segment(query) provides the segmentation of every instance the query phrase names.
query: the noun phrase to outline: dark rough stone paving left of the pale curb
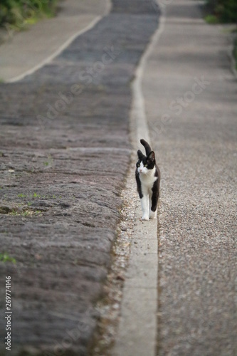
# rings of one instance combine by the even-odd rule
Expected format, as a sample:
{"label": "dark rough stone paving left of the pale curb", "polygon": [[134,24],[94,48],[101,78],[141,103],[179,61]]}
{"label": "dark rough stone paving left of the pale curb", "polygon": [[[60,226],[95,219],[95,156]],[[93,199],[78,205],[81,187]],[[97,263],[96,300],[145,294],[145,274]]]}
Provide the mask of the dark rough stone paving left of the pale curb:
{"label": "dark rough stone paving left of the pale curb", "polygon": [[[89,355],[130,164],[130,82],[157,28],[146,1],[111,13],[47,66],[1,83],[1,315],[11,355]],[[6,320],[1,318],[1,355]]]}

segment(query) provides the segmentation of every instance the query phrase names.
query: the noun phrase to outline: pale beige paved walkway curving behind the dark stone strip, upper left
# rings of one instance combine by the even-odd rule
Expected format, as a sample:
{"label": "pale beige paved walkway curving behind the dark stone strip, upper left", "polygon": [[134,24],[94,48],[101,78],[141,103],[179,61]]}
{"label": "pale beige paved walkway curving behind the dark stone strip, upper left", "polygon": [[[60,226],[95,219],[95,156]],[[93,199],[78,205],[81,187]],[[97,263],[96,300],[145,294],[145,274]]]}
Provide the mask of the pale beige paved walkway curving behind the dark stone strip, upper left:
{"label": "pale beige paved walkway curving behind the dark stone strip, upper left", "polygon": [[[66,0],[53,19],[43,19],[0,46],[0,79],[14,81],[51,61],[80,31],[110,11],[110,0]],[[79,14],[79,15],[78,15]]]}

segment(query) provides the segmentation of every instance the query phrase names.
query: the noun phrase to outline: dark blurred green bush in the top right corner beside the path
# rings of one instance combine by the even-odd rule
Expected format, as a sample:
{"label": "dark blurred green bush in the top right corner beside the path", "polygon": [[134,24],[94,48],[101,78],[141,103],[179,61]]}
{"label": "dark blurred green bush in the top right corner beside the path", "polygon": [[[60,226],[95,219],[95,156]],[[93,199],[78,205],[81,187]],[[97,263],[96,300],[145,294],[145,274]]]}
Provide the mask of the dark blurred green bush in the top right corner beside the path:
{"label": "dark blurred green bush in the top right corner beside the path", "polygon": [[237,23],[236,0],[206,0],[208,23]]}

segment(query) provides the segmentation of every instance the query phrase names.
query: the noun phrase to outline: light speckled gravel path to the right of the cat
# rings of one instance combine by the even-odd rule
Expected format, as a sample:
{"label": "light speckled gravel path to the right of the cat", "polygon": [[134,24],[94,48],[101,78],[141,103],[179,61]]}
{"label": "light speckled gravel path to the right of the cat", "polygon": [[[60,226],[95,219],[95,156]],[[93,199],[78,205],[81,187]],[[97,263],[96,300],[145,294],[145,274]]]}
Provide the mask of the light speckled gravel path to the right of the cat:
{"label": "light speckled gravel path to the right of the cat", "polygon": [[236,78],[229,35],[169,1],[143,92],[162,172],[157,355],[234,356]]}

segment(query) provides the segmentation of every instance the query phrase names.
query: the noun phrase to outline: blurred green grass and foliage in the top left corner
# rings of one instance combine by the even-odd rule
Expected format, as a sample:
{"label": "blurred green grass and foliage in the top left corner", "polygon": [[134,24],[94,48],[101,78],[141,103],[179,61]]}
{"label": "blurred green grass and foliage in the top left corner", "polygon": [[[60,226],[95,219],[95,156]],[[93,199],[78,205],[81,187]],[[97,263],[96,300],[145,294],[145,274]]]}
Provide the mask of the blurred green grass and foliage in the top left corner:
{"label": "blurred green grass and foliage in the top left corner", "polygon": [[56,13],[58,0],[1,0],[0,26],[21,30],[27,24]]}

